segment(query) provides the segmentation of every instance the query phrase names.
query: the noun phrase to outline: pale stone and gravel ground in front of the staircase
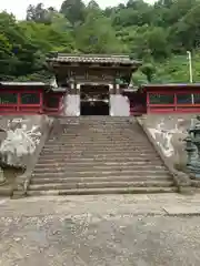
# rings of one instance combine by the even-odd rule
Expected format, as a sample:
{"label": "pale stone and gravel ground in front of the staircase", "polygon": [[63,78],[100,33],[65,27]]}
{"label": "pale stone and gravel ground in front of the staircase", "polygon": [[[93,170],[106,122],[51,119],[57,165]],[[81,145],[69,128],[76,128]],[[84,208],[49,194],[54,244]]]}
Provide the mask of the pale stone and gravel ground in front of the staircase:
{"label": "pale stone and gravel ground in front of the staircase", "polygon": [[0,266],[199,266],[200,196],[0,200]]}

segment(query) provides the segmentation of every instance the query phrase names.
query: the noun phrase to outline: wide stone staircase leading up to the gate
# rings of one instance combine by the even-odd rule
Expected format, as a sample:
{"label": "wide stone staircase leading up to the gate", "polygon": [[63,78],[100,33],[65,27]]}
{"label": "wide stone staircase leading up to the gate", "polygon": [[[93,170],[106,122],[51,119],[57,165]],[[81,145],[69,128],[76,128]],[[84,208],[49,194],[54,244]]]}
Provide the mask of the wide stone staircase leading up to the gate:
{"label": "wide stone staircase leading up to the gate", "polygon": [[173,178],[133,117],[60,121],[36,165],[28,195],[176,192]]}

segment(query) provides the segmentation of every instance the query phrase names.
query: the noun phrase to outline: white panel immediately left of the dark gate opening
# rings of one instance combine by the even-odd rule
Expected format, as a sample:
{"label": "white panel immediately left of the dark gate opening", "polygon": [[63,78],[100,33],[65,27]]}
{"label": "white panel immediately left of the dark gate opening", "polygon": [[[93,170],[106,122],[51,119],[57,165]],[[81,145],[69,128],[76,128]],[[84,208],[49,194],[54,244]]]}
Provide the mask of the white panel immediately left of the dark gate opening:
{"label": "white panel immediately left of the dark gate opening", "polygon": [[80,95],[69,94],[64,99],[64,115],[79,116],[80,115]]}

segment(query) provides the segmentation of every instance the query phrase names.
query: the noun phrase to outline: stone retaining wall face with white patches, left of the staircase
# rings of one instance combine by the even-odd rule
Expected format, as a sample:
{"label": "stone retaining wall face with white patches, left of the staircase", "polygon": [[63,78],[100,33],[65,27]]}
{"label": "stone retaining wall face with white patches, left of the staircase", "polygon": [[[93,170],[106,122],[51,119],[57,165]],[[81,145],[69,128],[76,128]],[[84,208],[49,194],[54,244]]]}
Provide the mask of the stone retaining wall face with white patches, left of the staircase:
{"label": "stone retaining wall face with white patches, left of the staircase", "polygon": [[47,115],[1,116],[0,157],[3,164],[27,167],[51,122]]}

